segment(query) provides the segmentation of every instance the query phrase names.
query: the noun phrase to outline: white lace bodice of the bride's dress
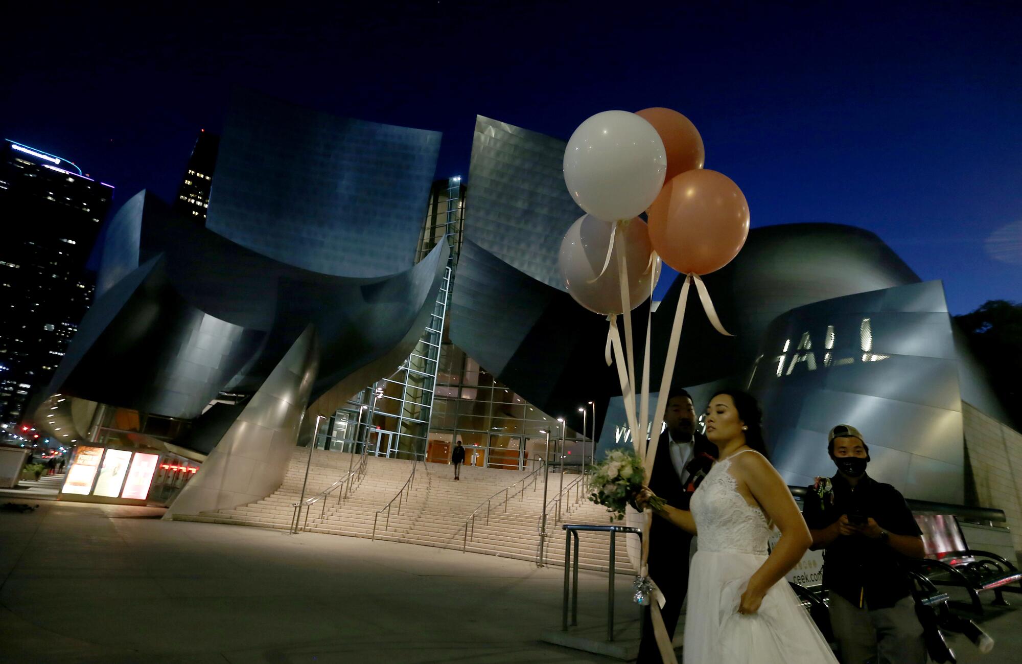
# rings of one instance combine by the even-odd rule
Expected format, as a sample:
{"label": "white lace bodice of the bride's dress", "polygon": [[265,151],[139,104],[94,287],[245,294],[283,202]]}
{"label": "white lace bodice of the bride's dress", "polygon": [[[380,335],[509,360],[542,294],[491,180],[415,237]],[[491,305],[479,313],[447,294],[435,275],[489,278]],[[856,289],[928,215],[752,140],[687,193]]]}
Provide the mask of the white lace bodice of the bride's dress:
{"label": "white lace bodice of the bride's dress", "polygon": [[714,464],[692,494],[690,507],[699,551],[765,555],[771,526],[762,510],[746,503],[738,492],[738,480],[728,472],[730,467],[731,458]]}

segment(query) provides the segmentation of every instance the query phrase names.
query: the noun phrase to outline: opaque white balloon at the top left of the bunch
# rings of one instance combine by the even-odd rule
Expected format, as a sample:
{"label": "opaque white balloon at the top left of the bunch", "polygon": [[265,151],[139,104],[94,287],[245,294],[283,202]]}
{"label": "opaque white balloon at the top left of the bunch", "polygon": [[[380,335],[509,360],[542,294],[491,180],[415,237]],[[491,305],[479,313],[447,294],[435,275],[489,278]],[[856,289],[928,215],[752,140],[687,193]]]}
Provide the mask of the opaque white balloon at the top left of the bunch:
{"label": "opaque white balloon at the top left of the bunch", "polygon": [[575,202],[606,221],[643,212],[663,188],[667,154],[648,122],[605,110],[578,126],[564,149],[564,183]]}

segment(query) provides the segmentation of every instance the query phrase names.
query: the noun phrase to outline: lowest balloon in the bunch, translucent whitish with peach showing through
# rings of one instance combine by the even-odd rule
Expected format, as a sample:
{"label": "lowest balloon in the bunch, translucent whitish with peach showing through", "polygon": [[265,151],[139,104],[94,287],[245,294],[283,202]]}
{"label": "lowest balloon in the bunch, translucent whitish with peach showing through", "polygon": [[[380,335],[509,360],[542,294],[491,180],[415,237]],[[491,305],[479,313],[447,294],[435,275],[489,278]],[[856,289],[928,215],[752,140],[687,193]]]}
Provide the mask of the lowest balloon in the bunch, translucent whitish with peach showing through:
{"label": "lowest balloon in the bunch, translucent whitish with peach showing through", "polygon": [[[639,306],[647,299],[660,278],[660,259],[650,265],[649,256],[653,245],[649,241],[646,222],[633,219],[621,222],[621,232],[614,240],[610,263],[601,275],[606,263],[610,234],[616,223],[599,220],[592,215],[579,217],[561,240],[561,251],[557,256],[557,267],[564,278],[568,294],[576,302],[597,314],[622,314],[620,272],[617,268],[617,253],[624,251],[625,271],[629,275],[629,304]],[[599,275],[599,276],[597,276]]]}

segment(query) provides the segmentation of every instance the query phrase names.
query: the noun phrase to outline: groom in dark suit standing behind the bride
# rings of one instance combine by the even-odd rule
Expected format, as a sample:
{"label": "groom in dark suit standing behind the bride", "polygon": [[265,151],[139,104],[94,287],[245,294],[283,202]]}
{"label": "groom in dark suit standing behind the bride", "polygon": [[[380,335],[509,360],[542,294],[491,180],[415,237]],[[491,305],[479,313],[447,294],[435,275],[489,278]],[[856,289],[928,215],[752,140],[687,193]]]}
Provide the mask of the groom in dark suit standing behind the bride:
{"label": "groom in dark suit standing behind the bride", "polygon": [[[664,412],[667,430],[656,446],[653,470],[656,475],[648,478],[649,488],[680,510],[689,509],[689,499],[699,482],[709,472],[716,457],[716,446],[696,432],[696,412],[692,397],[684,389],[670,390]],[[658,520],[650,537],[649,575],[663,592],[666,604],[661,615],[667,634],[673,638],[682,603],[689,587],[689,547],[692,535],[665,521]],[[658,664],[660,651],[653,636],[651,610],[645,609],[642,643],[639,645],[639,664]]]}

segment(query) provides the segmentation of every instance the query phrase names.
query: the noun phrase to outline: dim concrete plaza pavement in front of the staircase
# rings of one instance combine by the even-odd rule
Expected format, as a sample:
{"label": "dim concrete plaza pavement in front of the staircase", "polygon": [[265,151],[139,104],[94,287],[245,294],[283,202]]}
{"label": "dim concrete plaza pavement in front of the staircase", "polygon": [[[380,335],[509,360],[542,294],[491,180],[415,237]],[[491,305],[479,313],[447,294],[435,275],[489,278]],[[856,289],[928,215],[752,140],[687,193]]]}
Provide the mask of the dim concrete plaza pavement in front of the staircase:
{"label": "dim concrete plaza pavement in front of the staircase", "polygon": [[[0,662],[614,661],[540,641],[559,627],[561,568],[162,512],[0,510]],[[605,624],[606,578],[582,572],[580,626]],[[620,622],[635,617],[631,580],[618,577]],[[993,653],[953,635],[961,664],[1022,661],[1022,610],[981,624]]]}

